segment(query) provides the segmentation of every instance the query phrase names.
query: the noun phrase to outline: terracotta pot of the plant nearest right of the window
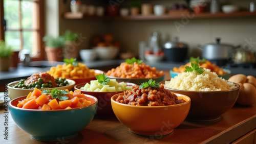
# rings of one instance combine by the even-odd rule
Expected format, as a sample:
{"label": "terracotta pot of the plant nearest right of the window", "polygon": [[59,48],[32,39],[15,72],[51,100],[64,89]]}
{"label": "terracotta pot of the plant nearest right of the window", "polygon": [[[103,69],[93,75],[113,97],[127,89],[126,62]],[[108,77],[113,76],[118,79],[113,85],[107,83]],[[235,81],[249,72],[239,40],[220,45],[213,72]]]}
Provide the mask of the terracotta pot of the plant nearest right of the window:
{"label": "terracotta pot of the plant nearest right of the window", "polygon": [[48,61],[62,61],[63,48],[62,47],[50,47],[45,48]]}

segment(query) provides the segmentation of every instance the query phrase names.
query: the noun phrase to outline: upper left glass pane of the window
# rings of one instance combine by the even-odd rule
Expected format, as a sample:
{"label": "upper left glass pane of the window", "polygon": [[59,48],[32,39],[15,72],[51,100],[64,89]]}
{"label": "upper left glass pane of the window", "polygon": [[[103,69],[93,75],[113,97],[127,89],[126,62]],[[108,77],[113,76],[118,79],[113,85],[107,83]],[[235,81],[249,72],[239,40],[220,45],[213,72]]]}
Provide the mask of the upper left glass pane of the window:
{"label": "upper left glass pane of the window", "polygon": [[7,29],[19,29],[19,1],[4,0],[4,14]]}

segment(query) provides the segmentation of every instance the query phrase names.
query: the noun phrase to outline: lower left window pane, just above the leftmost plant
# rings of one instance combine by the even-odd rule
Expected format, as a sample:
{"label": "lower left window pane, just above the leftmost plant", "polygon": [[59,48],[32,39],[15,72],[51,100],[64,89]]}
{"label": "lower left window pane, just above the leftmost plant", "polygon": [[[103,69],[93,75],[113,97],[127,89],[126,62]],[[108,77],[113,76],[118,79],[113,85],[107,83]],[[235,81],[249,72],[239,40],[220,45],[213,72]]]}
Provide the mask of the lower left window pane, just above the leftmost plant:
{"label": "lower left window pane, just above the leftmost plant", "polygon": [[6,44],[11,45],[14,50],[20,50],[19,31],[5,32]]}

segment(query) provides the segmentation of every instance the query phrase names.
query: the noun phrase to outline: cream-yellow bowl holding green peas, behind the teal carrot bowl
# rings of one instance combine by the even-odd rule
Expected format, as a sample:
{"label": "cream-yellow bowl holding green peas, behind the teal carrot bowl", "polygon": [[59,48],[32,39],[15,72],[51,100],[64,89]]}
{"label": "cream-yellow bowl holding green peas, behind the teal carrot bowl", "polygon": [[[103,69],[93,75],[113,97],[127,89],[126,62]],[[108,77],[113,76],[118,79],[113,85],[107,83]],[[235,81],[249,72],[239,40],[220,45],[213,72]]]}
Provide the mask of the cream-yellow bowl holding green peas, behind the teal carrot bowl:
{"label": "cream-yellow bowl holding green peas, behind the teal carrot bowl", "polygon": [[[54,87],[54,88],[58,88],[58,89],[68,89],[68,90],[73,90],[76,82],[73,80],[69,80],[66,79],[69,82],[69,85],[67,86],[61,86],[61,87]],[[14,87],[10,87],[10,85],[15,85],[17,84],[19,81],[14,81],[8,84],[7,88],[8,88],[8,93],[9,93],[9,97],[11,100],[18,98],[18,97],[22,97],[24,95],[28,95],[29,92],[32,92],[34,89],[22,89],[22,88],[14,88]],[[44,89],[54,89],[54,88],[39,88],[40,90],[44,90]]]}

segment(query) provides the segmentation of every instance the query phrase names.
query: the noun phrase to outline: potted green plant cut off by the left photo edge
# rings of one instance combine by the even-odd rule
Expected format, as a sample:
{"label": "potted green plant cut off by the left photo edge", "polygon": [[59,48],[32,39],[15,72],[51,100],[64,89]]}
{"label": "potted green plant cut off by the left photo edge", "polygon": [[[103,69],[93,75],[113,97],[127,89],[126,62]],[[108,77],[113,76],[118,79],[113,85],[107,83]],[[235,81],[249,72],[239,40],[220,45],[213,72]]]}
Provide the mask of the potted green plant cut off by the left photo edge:
{"label": "potted green plant cut off by the left photo edge", "polygon": [[0,40],[0,71],[7,71],[11,66],[11,56],[13,50],[11,46],[7,46],[5,41]]}

